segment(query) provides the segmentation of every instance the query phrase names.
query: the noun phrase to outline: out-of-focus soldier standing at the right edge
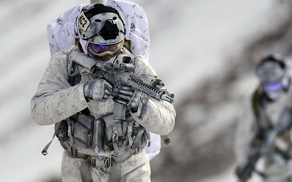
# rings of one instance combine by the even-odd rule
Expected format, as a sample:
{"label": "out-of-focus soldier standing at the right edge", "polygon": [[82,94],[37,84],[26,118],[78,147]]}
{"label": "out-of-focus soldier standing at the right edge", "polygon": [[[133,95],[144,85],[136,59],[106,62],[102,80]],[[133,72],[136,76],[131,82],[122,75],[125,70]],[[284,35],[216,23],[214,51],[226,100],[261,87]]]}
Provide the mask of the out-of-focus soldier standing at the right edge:
{"label": "out-of-focus soldier standing at the right edge", "polygon": [[[270,55],[258,63],[256,74],[260,84],[236,132],[237,177],[244,182],[256,172],[265,182],[291,182],[291,71]],[[264,171],[256,169],[261,157]]]}

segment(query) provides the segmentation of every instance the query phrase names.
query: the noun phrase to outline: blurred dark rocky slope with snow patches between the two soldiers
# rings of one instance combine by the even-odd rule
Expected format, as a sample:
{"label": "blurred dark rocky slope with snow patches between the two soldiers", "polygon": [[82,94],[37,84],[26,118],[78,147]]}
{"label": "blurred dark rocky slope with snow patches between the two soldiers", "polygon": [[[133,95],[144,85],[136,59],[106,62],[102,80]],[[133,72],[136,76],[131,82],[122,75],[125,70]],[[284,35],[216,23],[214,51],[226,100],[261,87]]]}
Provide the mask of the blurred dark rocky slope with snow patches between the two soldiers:
{"label": "blurred dark rocky slope with snow patches between the two soldiers", "polygon": [[[251,9],[246,8],[246,12]],[[205,73],[212,73],[196,82],[194,89],[184,90],[185,99],[176,107],[176,126],[170,133],[172,145],[163,146],[157,160],[151,161],[152,181],[236,180],[234,133],[242,103],[249,99],[242,96],[256,87],[254,66],[260,57],[271,52],[291,54],[290,12],[291,1],[271,2],[256,12],[258,15],[253,19],[238,26],[238,30],[234,29],[237,32],[225,35],[233,38],[233,33],[238,33],[227,45],[218,48],[221,53],[213,61],[219,60],[220,65],[211,65]],[[240,33],[241,30],[244,31]],[[198,74],[205,76],[204,72]],[[258,181],[255,176],[253,182]]]}

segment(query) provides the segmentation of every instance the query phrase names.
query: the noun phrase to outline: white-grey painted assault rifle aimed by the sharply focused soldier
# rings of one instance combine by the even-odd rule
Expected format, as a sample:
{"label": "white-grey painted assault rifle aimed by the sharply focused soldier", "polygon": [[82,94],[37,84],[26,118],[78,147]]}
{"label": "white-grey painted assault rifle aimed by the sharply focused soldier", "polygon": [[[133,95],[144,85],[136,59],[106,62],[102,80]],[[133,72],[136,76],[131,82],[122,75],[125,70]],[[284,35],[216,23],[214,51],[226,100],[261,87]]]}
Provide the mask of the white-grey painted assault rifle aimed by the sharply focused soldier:
{"label": "white-grey painted assault rifle aimed by the sharply focused soldier", "polygon": [[[174,102],[174,94],[168,92],[164,88],[164,83],[157,76],[147,74],[137,77],[133,74],[135,70],[133,58],[126,54],[118,54],[113,63],[102,63],[94,58],[82,53],[78,49],[73,49],[69,53],[69,76],[74,77],[77,74],[91,73],[96,78],[104,78],[113,86],[118,84],[126,84],[133,89],[141,91],[144,97],[161,101],[166,100],[170,103]],[[114,103],[114,119],[125,120],[126,107],[117,102]],[[142,110],[142,104],[139,105]],[[142,113],[137,113],[140,117]]]}

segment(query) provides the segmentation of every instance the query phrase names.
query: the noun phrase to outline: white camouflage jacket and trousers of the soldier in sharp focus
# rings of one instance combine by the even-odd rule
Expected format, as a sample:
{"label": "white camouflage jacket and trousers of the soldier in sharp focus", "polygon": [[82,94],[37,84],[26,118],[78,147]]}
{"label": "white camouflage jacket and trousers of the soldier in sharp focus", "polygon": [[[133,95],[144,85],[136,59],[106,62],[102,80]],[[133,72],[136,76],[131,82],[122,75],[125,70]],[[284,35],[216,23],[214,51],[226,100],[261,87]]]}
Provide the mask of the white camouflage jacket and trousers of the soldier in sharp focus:
{"label": "white camouflage jacket and trousers of the soldier in sharp focus", "polygon": [[[73,46],[75,47],[75,46]],[[73,49],[72,47],[72,49]],[[112,97],[107,102],[91,100],[89,103],[84,98],[83,85],[93,80],[90,74],[83,75],[79,84],[71,86],[68,83],[67,54],[70,50],[60,50],[53,55],[45,73],[37,87],[37,92],[31,100],[31,115],[39,125],[51,125],[59,122],[75,113],[85,109],[91,111],[95,119],[101,119],[113,113],[114,101]],[[153,68],[148,64],[144,56],[135,56],[134,74],[156,75]],[[140,125],[149,131],[166,135],[174,127],[175,109],[167,101],[149,100],[148,112],[145,120],[139,120],[136,114],[132,117]],[[87,149],[81,150],[82,153],[91,154]],[[84,159],[73,158],[66,152],[62,160],[62,179],[65,182],[81,181],[78,167]],[[149,159],[144,149],[136,155],[132,155],[126,161],[119,163],[121,167],[121,179],[125,182],[148,182],[150,181]],[[110,173],[99,171],[91,167],[91,175],[94,182],[99,180],[107,181]]]}

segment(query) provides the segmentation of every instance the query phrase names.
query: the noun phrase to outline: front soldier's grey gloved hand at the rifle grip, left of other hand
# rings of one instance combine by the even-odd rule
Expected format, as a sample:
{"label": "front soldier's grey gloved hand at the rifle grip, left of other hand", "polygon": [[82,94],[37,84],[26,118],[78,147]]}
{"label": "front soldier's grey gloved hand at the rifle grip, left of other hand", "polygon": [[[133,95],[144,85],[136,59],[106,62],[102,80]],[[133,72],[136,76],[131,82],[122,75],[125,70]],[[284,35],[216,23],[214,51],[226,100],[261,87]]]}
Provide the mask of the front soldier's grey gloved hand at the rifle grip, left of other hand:
{"label": "front soldier's grey gloved hand at the rifle grip, left of other hand", "polygon": [[95,79],[84,84],[83,93],[86,99],[105,102],[110,98],[111,84],[104,79]]}

